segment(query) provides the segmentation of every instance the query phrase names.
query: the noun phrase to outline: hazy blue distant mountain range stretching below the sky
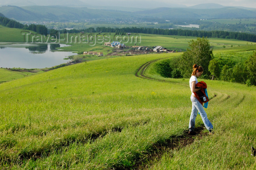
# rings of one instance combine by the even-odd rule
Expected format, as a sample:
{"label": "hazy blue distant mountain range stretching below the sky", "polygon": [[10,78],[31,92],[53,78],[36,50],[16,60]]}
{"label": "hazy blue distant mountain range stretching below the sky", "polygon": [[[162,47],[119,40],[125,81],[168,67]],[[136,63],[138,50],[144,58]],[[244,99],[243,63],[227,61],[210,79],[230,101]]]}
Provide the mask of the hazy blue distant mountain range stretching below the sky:
{"label": "hazy blue distant mountain range stretching below the sky", "polygon": [[[68,1],[63,1],[64,4],[65,2]],[[208,9],[205,9],[206,6]],[[162,19],[172,21],[173,19],[256,18],[256,9],[225,7],[218,4],[201,4],[190,8],[136,9],[139,11],[132,11],[131,9],[130,11],[113,10],[113,8],[112,10],[101,10],[87,7],[38,5],[18,7],[7,5],[0,7],[0,13],[7,18],[21,22],[69,22],[94,19],[105,21]]]}

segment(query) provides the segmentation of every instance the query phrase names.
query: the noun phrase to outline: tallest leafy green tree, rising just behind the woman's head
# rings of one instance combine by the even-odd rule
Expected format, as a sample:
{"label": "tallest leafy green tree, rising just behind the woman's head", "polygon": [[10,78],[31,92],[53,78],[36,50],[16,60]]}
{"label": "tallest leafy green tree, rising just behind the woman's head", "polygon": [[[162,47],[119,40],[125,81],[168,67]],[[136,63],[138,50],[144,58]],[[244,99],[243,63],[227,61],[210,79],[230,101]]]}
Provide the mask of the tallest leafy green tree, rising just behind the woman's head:
{"label": "tallest leafy green tree, rising just behind the woman's head", "polygon": [[192,73],[193,64],[197,64],[204,69],[204,78],[210,77],[208,65],[212,59],[212,49],[206,38],[197,38],[189,43],[189,48],[181,56],[179,62],[181,74],[184,78],[189,78]]}

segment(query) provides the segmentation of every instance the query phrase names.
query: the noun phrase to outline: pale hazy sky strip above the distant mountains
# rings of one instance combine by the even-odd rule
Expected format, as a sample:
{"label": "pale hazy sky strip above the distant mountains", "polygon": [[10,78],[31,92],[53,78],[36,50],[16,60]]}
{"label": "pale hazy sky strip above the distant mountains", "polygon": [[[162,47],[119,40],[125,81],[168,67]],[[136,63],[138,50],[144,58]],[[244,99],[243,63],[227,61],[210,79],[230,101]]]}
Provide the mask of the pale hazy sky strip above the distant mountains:
{"label": "pale hazy sky strip above the distant mountains", "polygon": [[[117,6],[137,8],[189,7],[198,4],[215,3],[224,6],[256,8],[256,0],[80,0],[84,5]],[[1,5],[81,5],[79,0],[0,0]]]}

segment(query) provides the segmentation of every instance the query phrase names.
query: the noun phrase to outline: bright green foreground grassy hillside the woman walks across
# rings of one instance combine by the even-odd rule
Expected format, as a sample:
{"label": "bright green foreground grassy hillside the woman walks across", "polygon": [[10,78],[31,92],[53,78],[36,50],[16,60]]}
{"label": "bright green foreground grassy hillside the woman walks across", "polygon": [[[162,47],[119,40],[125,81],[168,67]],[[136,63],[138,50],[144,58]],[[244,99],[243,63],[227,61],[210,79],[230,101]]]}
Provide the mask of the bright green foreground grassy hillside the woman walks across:
{"label": "bright green foreground grassy hillside the woman walks across", "polygon": [[198,116],[200,135],[181,144],[189,80],[153,74],[154,62],[139,69],[174,55],[95,60],[0,84],[0,169],[255,169],[256,88],[204,80],[215,134]]}

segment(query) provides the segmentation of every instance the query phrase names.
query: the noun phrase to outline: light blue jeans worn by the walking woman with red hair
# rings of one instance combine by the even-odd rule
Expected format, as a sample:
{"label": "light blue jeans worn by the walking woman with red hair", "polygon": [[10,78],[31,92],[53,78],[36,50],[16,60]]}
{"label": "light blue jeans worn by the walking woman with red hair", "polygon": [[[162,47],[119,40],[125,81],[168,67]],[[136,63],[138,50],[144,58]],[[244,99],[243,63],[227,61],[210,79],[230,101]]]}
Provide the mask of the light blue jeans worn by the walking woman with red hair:
{"label": "light blue jeans worn by the walking woman with red hair", "polygon": [[192,102],[192,111],[191,111],[190,120],[189,120],[189,127],[188,127],[189,131],[193,131],[195,128],[197,110],[199,111],[199,113],[202,117],[204,126],[206,126],[206,129],[208,131],[211,131],[213,129],[213,126],[212,126],[210,120],[208,120],[208,118],[207,118],[207,114],[204,111],[203,105],[197,100],[196,97],[193,97],[192,95],[191,95],[190,99]]}

